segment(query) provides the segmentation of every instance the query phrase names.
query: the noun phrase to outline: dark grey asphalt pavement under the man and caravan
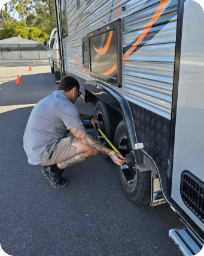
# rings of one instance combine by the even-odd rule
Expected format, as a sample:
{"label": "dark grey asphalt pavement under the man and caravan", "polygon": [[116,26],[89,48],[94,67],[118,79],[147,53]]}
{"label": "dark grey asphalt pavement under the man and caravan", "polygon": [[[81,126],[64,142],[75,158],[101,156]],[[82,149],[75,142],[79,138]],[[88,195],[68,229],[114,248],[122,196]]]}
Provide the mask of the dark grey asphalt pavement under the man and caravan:
{"label": "dark grey asphalt pavement under the man and caravan", "polygon": [[[29,65],[28,65],[29,67]],[[57,90],[49,66],[0,67],[0,245],[13,256],[179,256],[168,236],[183,226],[168,204],[133,204],[111,160],[97,154],[66,169],[54,189],[41,166],[29,165],[23,133],[33,105]],[[23,82],[16,84],[16,76]],[[80,112],[93,106],[75,103]],[[0,251],[1,251],[0,248]],[[1,254],[1,252],[0,252]]]}

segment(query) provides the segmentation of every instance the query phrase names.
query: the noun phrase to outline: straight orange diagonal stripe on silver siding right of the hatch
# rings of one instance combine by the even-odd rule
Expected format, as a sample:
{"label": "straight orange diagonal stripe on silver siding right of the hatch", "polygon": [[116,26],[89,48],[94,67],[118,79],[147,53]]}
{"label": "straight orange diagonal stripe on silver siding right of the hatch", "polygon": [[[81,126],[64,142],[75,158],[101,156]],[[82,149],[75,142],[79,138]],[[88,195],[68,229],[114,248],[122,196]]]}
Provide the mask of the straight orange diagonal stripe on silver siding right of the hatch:
{"label": "straight orange diagonal stripe on silver siding right of the hatch", "polygon": [[153,25],[154,22],[159,19],[160,14],[164,10],[166,4],[168,3],[169,0],[160,0],[159,7],[157,8],[156,12],[154,13],[154,16],[151,18],[150,22],[147,23],[147,25],[144,27],[144,30],[142,31],[141,35],[139,36],[138,40],[136,43],[133,44],[133,46],[130,48],[129,52],[127,55],[123,58],[123,63],[126,62],[126,59],[129,58],[130,54],[133,52],[133,50],[136,49],[139,43],[144,39],[145,35],[147,35],[148,31],[150,31],[151,26]]}

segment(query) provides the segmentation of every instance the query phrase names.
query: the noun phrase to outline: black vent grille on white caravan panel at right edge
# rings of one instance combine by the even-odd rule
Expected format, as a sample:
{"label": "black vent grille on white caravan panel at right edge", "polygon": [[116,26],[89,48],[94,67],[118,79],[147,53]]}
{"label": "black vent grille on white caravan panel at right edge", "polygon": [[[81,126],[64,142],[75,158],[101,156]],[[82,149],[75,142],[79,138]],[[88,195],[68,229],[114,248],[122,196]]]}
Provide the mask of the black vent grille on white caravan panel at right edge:
{"label": "black vent grille on white caravan panel at right edge", "polygon": [[204,184],[187,171],[181,175],[181,198],[188,209],[204,223]]}

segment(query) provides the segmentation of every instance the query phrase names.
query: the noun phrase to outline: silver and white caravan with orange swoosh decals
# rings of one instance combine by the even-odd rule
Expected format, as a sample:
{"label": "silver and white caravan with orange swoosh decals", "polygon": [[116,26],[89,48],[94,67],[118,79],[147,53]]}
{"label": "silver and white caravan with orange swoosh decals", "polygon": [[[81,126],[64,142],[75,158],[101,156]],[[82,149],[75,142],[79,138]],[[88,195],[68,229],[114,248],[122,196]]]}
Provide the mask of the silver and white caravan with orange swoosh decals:
{"label": "silver and white caravan with orange swoosh decals", "polygon": [[[80,82],[136,204],[170,204],[184,255],[204,243],[204,13],[193,0],[54,0],[60,73]],[[96,138],[108,146],[97,131]]]}

